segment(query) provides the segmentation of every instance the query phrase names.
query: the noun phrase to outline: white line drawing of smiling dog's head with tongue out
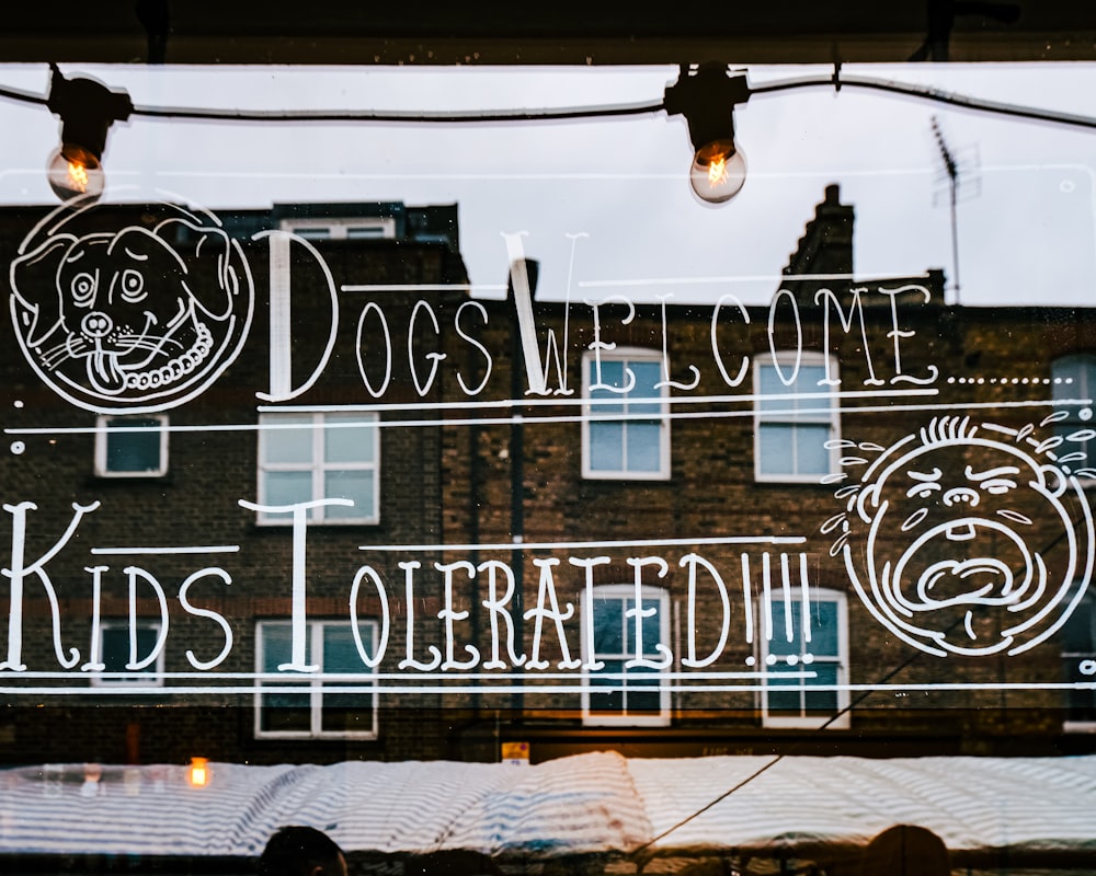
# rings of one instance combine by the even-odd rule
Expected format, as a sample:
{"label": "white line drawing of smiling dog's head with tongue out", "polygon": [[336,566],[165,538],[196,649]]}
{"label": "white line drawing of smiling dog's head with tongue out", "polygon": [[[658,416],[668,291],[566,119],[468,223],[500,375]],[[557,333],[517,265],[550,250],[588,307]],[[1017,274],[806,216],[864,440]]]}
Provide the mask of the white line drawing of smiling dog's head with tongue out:
{"label": "white line drawing of smiling dog's head with tongue out", "polygon": [[[194,241],[185,254],[173,243],[181,224]],[[16,333],[38,372],[78,404],[169,406],[235,356],[249,277],[216,224],[170,217],[82,234],[62,224],[28,242],[11,266]]]}

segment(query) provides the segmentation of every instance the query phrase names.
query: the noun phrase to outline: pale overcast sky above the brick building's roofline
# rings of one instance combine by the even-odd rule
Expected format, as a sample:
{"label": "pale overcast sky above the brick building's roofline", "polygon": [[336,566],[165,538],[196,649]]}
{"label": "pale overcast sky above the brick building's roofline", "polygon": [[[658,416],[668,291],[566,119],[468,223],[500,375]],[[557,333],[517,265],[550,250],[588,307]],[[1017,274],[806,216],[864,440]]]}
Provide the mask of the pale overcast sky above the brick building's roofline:
{"label": "pale overcast sky above the brick building's roofline", "polygon": [[[657,103],[674,67],[204,68],[64,66],[138,106],[511,111]],[[831,68],[750,68],[752,84]],[[849,66],[843,76],[1096,116],[1096,66]],[[0,84],[45,94],[45,66],[0,66]],[[755,94],[735,113],[741,194],[698,203],[685,123],[663,113],[568,123],[273,124],[135,117],[115,125],[104,199],[185,200],[214,211],[287,201],[459,205],[473,284],[506,281],[503,233],[527,232],[540,293],[767,302],[824,187],[856,208],[866,279],[944,268],[954,283],[937,117],[960,161],[964,304],[1094,303],[1096,131],[987,116],[853,88]],[[50,204],[58,122],[0,100],[0,203]],[[581,235],[581,237],[575,237]],[[572,262],[572,242],[576,242]],[[366,281],[363,278],[362,281]]]}

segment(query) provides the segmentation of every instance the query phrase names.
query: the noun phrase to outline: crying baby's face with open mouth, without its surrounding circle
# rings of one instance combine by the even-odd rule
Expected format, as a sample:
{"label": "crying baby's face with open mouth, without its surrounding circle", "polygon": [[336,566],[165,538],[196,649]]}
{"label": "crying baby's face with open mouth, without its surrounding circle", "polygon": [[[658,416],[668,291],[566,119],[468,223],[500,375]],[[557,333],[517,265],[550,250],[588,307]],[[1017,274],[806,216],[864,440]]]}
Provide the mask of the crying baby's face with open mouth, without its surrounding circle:
{"label": "crying baby's face with open mouth, without its surrounding circle", "polygon": [[1042,551],[1070,526],[1057,469],[1003,442],[971,446],[909,451],[858,503],[877,598],[956,652],[1005,647],[1044,608],[1059,588]]}

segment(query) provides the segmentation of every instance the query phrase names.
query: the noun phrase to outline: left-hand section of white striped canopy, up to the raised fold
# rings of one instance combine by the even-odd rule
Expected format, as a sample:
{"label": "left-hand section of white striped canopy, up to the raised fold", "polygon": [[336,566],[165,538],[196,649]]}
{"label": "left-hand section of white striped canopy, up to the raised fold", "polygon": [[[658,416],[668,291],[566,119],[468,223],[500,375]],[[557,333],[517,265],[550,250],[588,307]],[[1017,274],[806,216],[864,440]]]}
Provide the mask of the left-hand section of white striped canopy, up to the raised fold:
{"label": "left-hand section of white striped canopy, up to the raised fold", "polygon": [[283,825],[326,830],[346,851],[470,849],[584,854],[650,835],[628,763],[589,754],[538,766],[346,762],[21,768],[0,773],[0,853],[258,855]]}

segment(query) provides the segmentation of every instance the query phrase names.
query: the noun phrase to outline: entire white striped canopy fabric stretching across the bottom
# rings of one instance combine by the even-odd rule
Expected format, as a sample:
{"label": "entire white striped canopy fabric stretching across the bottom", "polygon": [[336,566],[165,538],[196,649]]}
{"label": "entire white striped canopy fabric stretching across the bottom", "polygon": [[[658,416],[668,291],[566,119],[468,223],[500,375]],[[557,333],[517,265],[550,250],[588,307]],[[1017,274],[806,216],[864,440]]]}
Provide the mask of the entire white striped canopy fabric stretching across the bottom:
{"label": "entire white striped canopy fabric stretching across the bottom", "polygon": [[937,833],[952,852],[1096,856],[1096,757],[629,760],[602,752],[535,766],[209,769],[205,787],[192,787],[179,765],[104,766],[98,781],[83,764],[0,772],[0,854],[250,856],[289,823],[326,830],[350,852],[777,854],[863,846],[905,823]]}

